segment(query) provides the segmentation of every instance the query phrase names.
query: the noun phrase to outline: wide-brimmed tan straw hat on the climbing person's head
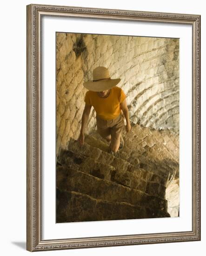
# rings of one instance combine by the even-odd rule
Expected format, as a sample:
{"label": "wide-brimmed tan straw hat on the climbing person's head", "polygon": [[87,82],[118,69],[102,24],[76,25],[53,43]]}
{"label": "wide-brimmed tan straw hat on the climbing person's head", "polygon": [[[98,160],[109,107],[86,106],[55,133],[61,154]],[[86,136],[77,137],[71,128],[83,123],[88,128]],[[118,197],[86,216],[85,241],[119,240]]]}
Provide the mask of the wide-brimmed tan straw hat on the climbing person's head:
{"label": "wide-brimmed tan straw hat on the climbing person's head", "polygon": [[120,80],[111,79],[106,67],[96,67],[93,70],[93,81],[84,82],[83,86],[90,91],[101,92],[113,88]]}

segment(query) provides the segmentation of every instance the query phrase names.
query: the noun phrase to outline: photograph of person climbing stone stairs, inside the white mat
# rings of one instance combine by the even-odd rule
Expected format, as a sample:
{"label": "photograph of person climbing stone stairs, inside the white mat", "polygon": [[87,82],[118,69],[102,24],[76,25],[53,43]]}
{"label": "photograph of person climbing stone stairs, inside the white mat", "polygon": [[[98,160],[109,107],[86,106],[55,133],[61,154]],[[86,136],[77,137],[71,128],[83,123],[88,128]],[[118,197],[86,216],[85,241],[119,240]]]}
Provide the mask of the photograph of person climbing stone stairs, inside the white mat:
{"label": "photograph of person climbing stone stairs, inside the white mat", "polygon": [[179,38],[56,32],[56,222],[179,207]]}

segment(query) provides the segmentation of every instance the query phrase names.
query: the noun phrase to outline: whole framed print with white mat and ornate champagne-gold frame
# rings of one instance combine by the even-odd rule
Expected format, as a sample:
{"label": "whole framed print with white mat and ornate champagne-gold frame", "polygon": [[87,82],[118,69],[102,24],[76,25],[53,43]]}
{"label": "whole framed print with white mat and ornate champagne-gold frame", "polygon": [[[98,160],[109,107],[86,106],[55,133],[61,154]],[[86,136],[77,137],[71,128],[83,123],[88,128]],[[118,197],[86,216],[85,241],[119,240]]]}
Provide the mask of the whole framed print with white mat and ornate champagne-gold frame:
{"label": "whole framed print with white mat and ornate champagne-gold frame", "polygon": [[200,240],[200,15],[27,6],[27,250]]}

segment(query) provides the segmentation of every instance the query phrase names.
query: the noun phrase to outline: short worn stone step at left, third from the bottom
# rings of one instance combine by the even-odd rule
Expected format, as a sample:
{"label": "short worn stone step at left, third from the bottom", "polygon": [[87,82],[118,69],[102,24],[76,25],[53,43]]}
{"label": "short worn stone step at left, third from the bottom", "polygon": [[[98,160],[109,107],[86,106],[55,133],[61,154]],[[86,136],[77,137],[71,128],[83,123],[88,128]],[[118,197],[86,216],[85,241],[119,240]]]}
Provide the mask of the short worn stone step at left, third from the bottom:
{"label": "short worn stone step at left, third from the bottom", "polygon": [[109,181],[111,181],[111,177],[115,174],[113,166],[97,162],[91,157],[86,157],[66,149],[60,150],[58,162],[66,168],[82,170],[85,173]]}

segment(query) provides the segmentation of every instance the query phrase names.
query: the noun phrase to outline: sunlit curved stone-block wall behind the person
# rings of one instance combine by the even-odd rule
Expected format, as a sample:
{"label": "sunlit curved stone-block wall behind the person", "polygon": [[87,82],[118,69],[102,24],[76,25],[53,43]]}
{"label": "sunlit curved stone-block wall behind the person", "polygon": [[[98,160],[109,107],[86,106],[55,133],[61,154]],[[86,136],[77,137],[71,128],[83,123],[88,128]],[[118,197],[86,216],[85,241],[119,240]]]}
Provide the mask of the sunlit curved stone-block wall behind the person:
{"label": "sunlit curved stone-block wall behind the person", "polygon": [[[109,68],[127,95],[131,122],[179,133],[179,40],[57,33],[57,153],[78,138],[86,89],[93,69]],[[86,132],[95,128],[95,113]]]}

